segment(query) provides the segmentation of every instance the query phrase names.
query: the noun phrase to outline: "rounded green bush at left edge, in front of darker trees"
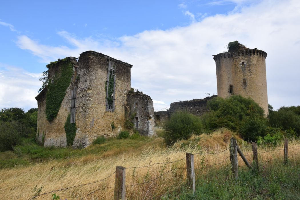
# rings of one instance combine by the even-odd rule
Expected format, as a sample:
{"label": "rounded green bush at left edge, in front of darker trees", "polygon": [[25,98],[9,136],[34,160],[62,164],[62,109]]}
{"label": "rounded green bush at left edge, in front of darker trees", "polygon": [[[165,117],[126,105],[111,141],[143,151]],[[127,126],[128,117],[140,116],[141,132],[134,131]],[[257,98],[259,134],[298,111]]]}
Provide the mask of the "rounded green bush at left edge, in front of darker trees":
{"label": "rounded green bush at left edge, in front of darker trees", "polygon": [[0,151],[13,150],[13,147],[20,144],[20,125],[16,121],[0,121]]}

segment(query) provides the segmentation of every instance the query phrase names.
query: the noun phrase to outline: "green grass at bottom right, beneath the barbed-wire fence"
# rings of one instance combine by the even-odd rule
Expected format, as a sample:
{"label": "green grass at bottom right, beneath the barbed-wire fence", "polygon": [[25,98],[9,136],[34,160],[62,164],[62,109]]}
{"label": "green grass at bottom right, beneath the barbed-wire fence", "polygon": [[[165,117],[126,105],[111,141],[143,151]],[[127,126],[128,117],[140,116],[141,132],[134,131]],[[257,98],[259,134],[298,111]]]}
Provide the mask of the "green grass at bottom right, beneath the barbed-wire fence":
{"label": "green grass at bottom right, beneath the barbed-wire fence", "polygon": [[195,195],[183,185],[161,199],[299,199],[299,157],[290,160],[288,166],[281,160],[263,164],[259,172],[240,167],[237,180],[230,168],[197,172]]}

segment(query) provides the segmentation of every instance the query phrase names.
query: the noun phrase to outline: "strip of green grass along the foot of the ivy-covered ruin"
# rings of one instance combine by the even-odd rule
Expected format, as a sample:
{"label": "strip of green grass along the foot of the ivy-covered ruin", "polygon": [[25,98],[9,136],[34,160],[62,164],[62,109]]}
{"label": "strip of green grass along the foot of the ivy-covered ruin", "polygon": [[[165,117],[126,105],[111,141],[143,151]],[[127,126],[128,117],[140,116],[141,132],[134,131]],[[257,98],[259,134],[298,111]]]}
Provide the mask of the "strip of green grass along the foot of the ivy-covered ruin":
{"label": "strip of green grass along the foot of the ivy-covered ruin", "polygon": [[109,138],[102,144],[90,145],[83,149],[43,147],[35,139],[23,139],[22,145],[14,147],[13,151],[0,153],[0,169],[27,166],[32,163],[46,162],[51,159],[69,159],[83,157],[88,154],[101,155],[112,151],[111,155],[122,153],[130,149],[141,148],[150,144],[152,138],[140,136],[138,138],[116,139]]}

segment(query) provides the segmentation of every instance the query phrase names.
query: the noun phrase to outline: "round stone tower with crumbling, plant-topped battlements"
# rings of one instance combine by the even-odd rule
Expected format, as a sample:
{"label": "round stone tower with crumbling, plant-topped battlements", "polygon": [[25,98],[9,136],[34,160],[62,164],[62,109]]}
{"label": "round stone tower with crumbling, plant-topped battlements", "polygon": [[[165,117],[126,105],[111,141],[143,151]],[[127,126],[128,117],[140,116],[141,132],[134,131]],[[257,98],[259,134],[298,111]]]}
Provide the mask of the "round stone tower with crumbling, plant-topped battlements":
{"label": "round stone tower with crumbling, plant-topped battlements", "polygon": [[228,52],[213,56],[216,62],[218,97],[226,98],[232,94],[250,97],[265,110],[267,116],[267,53],[256,48],[246,48],[234,41],[228,44]]}

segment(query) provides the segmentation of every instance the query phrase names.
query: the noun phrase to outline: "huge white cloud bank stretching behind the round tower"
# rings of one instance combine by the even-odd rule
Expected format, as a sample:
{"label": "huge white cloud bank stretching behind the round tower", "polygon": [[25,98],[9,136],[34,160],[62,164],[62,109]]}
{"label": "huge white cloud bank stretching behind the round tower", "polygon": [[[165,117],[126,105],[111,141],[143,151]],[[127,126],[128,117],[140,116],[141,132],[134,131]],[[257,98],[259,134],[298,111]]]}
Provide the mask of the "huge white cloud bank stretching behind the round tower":
{"label": "huge white cloud bank stretching behind the round tower", "polygon": [[[300,66],[294,59],[300,47],[299,10],[300,2],[296,0],[262,1],[185,27],[146,30],[116,40],[78,38],[61,31],[58,34],[70,46],[44,45],[25,35],[18,37],[17,45],[44,62],[65,56],[78,57],[87,50],[121,59],[134,65],[131,69],[133,87],[169,105],[176,99],[190,100],[203,98],[205,93],[216,93],[212,55],[226,51],[223,47],[228,42],[238,40],[247,47],[268,53],[268,100],[278,108],[299,104]],[[187,15],[192,17],[192,13]],[[155,109],[159,105],[155,103]]]}

